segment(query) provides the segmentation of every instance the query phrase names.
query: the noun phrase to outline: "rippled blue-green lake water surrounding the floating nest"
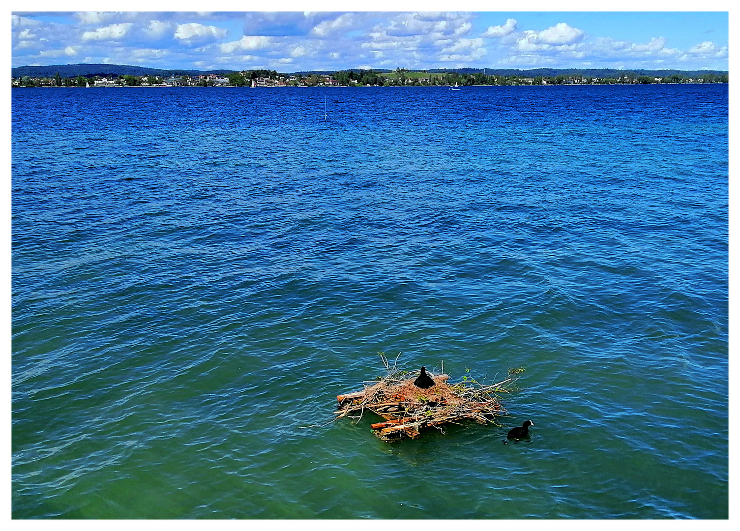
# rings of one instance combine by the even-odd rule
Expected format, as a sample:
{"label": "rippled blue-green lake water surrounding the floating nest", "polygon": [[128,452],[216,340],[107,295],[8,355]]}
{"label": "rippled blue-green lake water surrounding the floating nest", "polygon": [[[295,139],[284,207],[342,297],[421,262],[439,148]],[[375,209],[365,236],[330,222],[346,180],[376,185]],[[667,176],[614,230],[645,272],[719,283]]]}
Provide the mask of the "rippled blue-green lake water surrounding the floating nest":
{"label": "rippled blue-green lake water surrounding the floating nest", "polygon": [[14,518],[727,518],[726,85],[12,98]]}

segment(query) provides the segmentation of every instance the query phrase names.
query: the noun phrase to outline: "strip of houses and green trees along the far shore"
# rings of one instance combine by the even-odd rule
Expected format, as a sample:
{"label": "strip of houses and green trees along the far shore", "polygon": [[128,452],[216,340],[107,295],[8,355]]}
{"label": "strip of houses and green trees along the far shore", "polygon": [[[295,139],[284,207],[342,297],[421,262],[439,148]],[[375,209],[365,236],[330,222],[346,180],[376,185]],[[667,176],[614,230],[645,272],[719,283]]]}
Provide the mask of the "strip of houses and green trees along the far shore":
{"label": "strip of houses and green trees along the far shore", "polygon": [[690,78],[682,74],[665,77],[623,72],[619,77],[597,78],[581,74],[523,77],[519,75],[486,75],[457,72],[395,72],[373,70],[340,70],[334,74],[282,74],[275,70],[243,70],[227,74],[201,75],[78,75],[62,78],[57,72],[51,78],[23,76],[12,78],[13,87],[434,87],[471,85],[593,85],[593,84],[665,84],[727,83],[727,74],[707,73]]}

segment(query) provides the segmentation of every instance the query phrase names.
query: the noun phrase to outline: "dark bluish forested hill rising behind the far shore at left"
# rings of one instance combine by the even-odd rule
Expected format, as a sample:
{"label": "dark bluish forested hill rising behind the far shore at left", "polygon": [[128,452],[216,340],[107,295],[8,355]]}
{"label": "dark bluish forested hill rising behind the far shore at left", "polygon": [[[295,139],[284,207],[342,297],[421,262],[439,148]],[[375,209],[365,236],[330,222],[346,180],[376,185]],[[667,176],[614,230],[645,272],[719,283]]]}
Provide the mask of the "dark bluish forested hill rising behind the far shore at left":
{"label": "dark bluish forested hill rising behind the far shore at left", "polygon": [[21,78],[24,75],[30,78],[53,78],[59,72],[62,78],[76,78],[78,75],[201,75],[227,74],[234,70],[185,70],[171,68],[134,67],[129,64],[52,64],[48,67],[16,67],[11,70],[11,77]]}

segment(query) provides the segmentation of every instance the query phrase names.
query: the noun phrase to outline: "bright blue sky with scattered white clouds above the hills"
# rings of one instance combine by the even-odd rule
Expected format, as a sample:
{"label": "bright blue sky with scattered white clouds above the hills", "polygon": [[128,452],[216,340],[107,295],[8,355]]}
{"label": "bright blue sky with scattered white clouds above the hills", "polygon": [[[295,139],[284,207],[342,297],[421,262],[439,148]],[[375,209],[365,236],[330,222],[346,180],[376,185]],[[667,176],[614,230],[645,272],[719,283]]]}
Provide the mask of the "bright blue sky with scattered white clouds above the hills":
{"label": "bright blue sky with scattered white clouds above the hills", "polygon": [[707,13],[13,13],[12,66],[729,70]]}

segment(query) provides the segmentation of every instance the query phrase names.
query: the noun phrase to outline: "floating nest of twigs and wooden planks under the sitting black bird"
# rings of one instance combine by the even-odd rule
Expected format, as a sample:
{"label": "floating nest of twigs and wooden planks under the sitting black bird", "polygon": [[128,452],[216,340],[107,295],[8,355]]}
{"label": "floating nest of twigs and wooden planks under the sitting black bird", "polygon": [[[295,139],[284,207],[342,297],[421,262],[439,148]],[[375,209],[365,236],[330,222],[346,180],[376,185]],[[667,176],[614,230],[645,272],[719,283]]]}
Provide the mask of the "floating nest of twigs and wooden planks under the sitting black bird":
{"label": "floating nest of twigs and wooden planks under the sitting black bird", "polygon": [[425,427],[442,430],[445,424],[460,424],[465,420],[500,426],[496,419],[507,411],[498,394],[516,389],[514,382],[524,371],[509,369],[505,379],[492,385],[484,385],[469,376],[451,384],[443,366],[439,374],[427,371],[434,386],[422,389],[414,385],[420,371],[401,371],[396,366],[398,358],[391,365],[386,356],[380,354],[380,357],[386,365],[386,376],[364,382],[364,390],[337,396],[339,410],[334,415],[336,419],[347,416],[357,422],[366,411],[383,417],[386,422],[377,422],[371,428],[385,442],[406,437],[416,439]]}

